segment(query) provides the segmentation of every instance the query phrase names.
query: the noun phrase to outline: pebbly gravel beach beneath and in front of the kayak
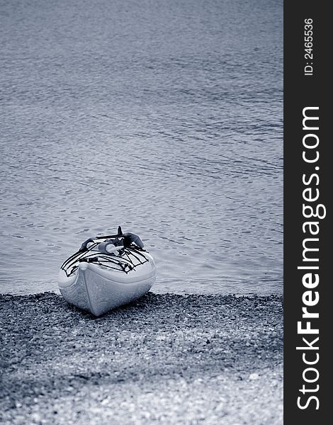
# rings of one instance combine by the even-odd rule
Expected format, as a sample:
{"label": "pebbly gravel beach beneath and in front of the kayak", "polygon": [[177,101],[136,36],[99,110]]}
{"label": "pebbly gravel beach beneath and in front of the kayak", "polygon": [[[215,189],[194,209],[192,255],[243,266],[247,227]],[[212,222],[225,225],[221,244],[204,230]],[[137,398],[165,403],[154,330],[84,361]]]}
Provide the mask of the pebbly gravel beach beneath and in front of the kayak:
{"label": "pebbly gravel beach beneath and in front of the kayak", "polygon": [[0,295],[1,424],[283,424],[283,299]]}

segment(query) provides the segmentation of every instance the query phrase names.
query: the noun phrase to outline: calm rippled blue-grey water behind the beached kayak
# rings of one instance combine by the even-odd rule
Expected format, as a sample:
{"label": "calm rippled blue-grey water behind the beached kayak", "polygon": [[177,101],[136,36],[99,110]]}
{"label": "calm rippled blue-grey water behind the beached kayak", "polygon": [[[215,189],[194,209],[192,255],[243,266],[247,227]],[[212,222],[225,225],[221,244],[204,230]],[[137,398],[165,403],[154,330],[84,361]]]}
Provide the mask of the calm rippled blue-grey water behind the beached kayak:
{"label": "calm rippled blue-grey water behind the beached kayak", "polygon": [[283,6],[0,2],[0,292],[118,225],[154,292],[282,292]]}

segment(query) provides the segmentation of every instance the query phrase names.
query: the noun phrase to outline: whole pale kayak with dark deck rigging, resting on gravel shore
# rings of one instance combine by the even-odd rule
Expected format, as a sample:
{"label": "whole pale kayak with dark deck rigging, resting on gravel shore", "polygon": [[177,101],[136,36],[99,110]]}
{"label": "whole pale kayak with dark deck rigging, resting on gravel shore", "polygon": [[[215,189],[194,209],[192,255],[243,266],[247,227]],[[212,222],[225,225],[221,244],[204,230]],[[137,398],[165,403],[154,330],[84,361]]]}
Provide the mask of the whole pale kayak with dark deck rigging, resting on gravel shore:
{"label": "whole pale kayak with dark deck rigging, resting on gravel shore", "polygon": [[145,295],[156,273],[154,259],[143,249],[141,239],[123,234],[118,227],[117,235],[88,239],[64,261],[58,284],[67,302],[101,316]]}

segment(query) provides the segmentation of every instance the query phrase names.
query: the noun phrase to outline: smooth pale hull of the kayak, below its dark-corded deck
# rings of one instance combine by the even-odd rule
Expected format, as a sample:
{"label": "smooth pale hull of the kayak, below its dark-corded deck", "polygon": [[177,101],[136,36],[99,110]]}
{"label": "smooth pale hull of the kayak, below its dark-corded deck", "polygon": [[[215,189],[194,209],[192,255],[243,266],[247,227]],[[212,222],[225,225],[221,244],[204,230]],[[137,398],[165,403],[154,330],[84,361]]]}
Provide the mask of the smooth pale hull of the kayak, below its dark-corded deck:
{"label": "smooth pale hull of the kayak, below its dark-corded deck", "polygon": [[81,262],[74,276],[60,271],[60,293],[67,302],[98,317],[137,300],[152,288],[156,280],[156,266],[152,256],[129,273],[103,268],[94,263]]}

